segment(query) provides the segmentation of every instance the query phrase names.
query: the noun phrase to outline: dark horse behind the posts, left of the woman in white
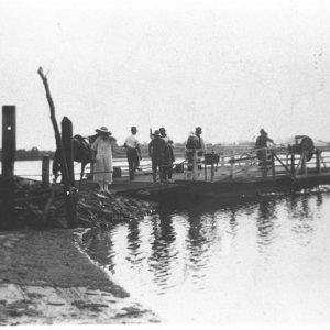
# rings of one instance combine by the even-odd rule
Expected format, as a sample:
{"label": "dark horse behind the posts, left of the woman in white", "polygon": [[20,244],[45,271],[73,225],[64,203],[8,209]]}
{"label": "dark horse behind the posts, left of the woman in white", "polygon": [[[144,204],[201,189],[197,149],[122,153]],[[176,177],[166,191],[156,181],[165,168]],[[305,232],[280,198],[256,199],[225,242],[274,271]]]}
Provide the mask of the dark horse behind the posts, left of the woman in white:
{"label": "dark horse behind the posts, left of the woman in white", "polygon": [[[91,148],[92,140],[95,140],[94,136],[89,136],[88,140],[79,134],[73,136],[74,161],[81,163],[79,186],[81,185],[86,165],[94,162],[94,153]],[[55,183],[58,177],[58,170],[61,170],[61,157],[59,151],[56,150],[53,161],[53,175]]]}

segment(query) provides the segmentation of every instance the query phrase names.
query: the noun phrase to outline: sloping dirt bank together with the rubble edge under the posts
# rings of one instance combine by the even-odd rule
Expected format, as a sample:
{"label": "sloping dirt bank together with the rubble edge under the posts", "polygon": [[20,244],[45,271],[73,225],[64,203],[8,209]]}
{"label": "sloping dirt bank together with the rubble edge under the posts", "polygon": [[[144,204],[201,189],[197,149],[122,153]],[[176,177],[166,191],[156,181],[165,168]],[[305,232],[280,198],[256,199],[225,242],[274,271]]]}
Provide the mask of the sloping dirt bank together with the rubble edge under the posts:
{"label": "sloping dirt bank together with the rubble edge under the posts", "polygon": [[66,228],[62,202],[52,205],[43,230],[38,228],[42,204],[35,202],[18,209],[20,223],[26,211],[30,223],[0,231],[0,326],[160,322],[90,261],[79,240],[87,228],[107,229],[141,219],[156,206],[82,190],[77,204],[79,227],[73,230]]}

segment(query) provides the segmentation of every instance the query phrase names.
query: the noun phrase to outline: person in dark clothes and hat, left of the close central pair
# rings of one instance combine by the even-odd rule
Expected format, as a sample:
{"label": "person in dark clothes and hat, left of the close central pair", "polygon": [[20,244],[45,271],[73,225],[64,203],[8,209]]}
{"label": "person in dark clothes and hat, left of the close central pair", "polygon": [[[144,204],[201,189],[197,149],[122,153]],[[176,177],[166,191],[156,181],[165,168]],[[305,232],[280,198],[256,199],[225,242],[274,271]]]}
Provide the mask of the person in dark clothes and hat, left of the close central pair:
{"label": "person in dark clothes and hat, left of the close central pair", "polygon": [[157,169],[160,172],[161,182],[164,180],[164,160],[166,155],[166,142],[162,139],[161,132],[156,130],[153,133],[153,140],[148,144],[148,154],[152,158],[153,182],[157,179]]}

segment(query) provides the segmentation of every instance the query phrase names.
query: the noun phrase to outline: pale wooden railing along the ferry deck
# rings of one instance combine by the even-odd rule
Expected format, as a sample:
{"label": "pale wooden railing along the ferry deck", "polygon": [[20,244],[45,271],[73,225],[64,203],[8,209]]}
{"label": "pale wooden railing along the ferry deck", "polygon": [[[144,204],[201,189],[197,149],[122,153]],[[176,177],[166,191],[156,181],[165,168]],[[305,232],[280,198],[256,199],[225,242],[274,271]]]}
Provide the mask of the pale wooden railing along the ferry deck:
{"label": "pale wooden railing along the ferry deck", "polygon": [[330,153],[327,155],[327,152],[330,152],[330,146],[316,147],[311,153],[293,153],[286,146],[250,148],[243,154],[234,151],[226,155],[218,154],[218,162],[215,163],[198,157],[196,152],[193,162],[185,161],[185,179],[213,182],[239,177],[296,178],[311,173],[328,173]]}

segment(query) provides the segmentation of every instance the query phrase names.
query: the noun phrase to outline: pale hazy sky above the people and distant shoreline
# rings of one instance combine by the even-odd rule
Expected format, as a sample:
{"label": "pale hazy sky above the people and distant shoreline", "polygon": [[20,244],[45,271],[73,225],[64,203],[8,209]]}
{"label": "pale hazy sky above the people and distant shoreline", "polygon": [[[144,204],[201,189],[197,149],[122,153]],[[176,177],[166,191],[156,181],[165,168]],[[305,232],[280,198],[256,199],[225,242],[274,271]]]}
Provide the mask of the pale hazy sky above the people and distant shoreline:
{"label": "pale hazy sky above the people and distant shoreline", "polygon": [[0,0],[1,106],[16,106],[18,147],[53,150],[38,66],[74,133],[330,141],[327,1]]}

